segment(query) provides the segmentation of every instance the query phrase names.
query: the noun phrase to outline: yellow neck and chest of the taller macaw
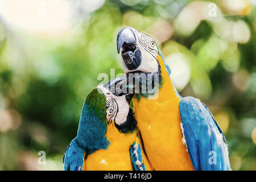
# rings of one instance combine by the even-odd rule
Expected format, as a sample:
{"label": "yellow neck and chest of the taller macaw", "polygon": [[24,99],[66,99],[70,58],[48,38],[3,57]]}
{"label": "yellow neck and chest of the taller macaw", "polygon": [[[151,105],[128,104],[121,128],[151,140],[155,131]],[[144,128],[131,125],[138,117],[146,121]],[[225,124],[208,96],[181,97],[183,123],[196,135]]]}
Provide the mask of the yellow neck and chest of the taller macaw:
{"label": "yellow neck and chest of the taller macaw", "polygon": [[189,154],[182,143],[180,98],[165,70],[162,59],[163,86],[158,98],[133,98],[135,118],[141,131],[144,148],[151,166],[156,170],[193,170]]}

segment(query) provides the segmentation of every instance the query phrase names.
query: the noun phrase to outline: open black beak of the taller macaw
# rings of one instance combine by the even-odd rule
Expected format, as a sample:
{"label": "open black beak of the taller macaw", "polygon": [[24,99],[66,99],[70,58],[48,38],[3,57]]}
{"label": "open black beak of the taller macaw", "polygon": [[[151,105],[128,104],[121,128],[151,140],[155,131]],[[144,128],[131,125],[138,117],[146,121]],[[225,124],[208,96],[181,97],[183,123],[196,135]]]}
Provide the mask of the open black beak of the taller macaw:
{"label": "open black beak of the taller macaw", "polygon": [[136,46],[136,36],[131,28],[123,28],[117,35],[117,52],[122,48],[125,67],[130,71],[141,65],[141,51]]}

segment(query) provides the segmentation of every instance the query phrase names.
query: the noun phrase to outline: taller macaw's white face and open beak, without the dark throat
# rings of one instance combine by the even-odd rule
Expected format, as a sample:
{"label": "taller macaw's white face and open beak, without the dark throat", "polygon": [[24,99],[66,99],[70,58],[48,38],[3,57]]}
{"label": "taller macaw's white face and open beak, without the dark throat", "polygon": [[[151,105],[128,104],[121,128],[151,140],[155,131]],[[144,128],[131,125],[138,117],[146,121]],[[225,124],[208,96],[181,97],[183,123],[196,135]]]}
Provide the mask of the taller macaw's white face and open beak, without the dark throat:
{"label": "taller macaw's white face and open beak, without the dark throat", "polygon": [[122,55],[124,72],[156,73],[160,49],[155,40],[135,28],[127,27],[117,35],[117,52]]}

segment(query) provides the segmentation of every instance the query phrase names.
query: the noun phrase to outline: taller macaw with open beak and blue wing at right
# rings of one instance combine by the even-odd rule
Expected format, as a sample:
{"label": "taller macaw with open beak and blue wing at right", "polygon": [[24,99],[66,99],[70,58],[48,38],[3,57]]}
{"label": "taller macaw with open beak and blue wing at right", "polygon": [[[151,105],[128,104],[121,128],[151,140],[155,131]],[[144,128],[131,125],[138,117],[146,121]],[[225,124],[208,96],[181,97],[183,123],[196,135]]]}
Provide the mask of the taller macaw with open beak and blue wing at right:
{"label": "taller macaw with open beak and blue wing at right", "polygon": [[[156,92],[135,92],[133,106],[151,167],[155,170],[231,170],[228,145],[207,106],[181,97],[171,82],[171,70],[154,39],[127,27],[119,31],[117,51],[130,80],[154,85]],[[137,74],[136,74],[137,73]],[[152,74],[157,77],[152,78]],[[141,81],[146,75],[146,81]],[[132,82],[133,84],[133,82]],[[141,85],[140,85],[141,86]],[[136,87],[136,85],[135,85]],[[142,86],[141,86],[142,87]]]}

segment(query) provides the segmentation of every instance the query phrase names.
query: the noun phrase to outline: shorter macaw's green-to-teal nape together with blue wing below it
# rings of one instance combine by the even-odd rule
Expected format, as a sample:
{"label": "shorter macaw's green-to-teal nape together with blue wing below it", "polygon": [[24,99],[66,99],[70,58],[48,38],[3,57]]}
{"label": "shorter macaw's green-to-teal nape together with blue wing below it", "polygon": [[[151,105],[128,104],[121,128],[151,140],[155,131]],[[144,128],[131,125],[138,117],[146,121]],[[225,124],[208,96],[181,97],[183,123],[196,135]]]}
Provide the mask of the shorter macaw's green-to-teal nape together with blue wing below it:
{"label": "shorter macaw's green-to-teal nape together with blue wing below it", "polygon": [[104,94],[98,93],[97,89],[85,98],[77,136],[63,156],[64,170],[81,169],[85,152],[89,155],[98,149],[108,148],[109,142],[105,137],[108,123],[105,103]]}

